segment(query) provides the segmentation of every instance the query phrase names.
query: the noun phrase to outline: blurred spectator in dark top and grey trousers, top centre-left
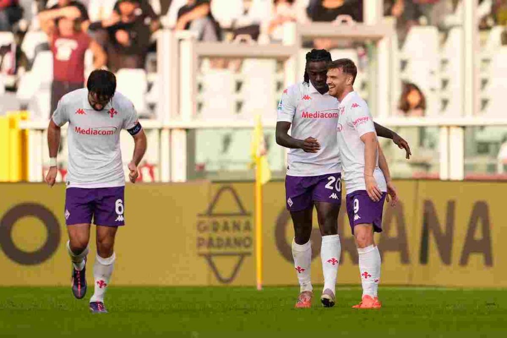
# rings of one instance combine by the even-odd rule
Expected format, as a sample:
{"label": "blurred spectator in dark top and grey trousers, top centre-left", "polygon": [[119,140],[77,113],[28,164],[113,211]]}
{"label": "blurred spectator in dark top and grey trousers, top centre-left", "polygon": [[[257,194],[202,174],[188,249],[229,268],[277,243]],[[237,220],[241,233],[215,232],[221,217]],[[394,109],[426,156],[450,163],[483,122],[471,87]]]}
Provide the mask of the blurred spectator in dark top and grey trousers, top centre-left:
{"label": "blurred spectator in dark top and grey trousers, top centre-left", "polygon": [[220,26],[211,14],[210,0],[188,0],[178,10],[175,29],[195,31],[199,41],[222,40]]}

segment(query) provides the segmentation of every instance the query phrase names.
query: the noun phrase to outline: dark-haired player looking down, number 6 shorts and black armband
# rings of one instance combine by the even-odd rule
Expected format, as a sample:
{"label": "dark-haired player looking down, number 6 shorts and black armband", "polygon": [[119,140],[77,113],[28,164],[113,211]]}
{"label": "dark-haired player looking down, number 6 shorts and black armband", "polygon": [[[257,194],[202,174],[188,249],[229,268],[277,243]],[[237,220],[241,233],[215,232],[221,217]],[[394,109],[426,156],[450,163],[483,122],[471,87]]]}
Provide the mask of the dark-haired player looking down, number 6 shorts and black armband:
{"label": "dark-haired player looking down, number 6 shorts and black armband", "polygon": [[146,152],[146,135],[132,102],[116,92],[115,75],[103,69],[92,71],[87,88],[64,95],[49,122],[50,168],[46,182],[51,186],[57,173],[60,127],[65,123],[68,123],[65,219],[72,291],[78,299],[86,294],[86,257],[93,220],[97,226],[97,255],[93,266],[95,290],[89,307],[93,313],[106,313],[104,294],[116,260],[116,232],[125,224],[120,131],[126,129],[134,139],[134,154],[128,164],[132,183],[138,177],[137,166]]}

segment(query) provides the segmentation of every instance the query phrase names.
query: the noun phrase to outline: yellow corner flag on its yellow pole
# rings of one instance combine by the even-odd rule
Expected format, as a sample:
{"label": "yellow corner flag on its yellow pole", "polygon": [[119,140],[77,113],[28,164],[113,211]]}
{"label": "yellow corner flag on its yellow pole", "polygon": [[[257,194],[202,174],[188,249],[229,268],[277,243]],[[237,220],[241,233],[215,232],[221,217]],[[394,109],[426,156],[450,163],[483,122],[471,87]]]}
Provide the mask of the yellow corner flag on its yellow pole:
{"label": "yellow corner flag on its yellow pole", "polygon": [[261,117],[257,116],[257,123],[252,135],[251,144],[252,164],[255,166],[255,256],[257,289],[262,290],[262,186],[271,179],[268,159],[266,157],[266,143],[262,132]]}

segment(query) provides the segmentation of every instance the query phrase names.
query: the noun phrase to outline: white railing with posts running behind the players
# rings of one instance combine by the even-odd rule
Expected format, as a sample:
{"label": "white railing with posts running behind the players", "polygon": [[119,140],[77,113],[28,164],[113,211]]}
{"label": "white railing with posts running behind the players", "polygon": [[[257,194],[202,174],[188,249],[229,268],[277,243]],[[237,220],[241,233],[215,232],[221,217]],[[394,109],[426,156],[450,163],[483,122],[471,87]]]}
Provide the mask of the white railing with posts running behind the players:
{"label": "white railing with posts running behind the players", "polygon": [[[505,126],[507,127],[507,118],[505,119],[481,119],[481,118],[376,118],[375,121],[389,128],[396,127],[438,127],[439,128],[439,159],[440,172],[439,177],[443,180],[462,180],[464,178],[464,128],[479,126]],[[178,159],[176,154],[181,154],[180,144],[173,142],[175,138],[187,136],[189,130],[195,129],[221,129],[221,128],[253,128],[255,121],[171,121],[157,122],[153,120],[141,120],[141,125],[151,133],[151,152],[152,161],[159,170],[155,177],[156,181],[169,182],[181,181],[178,177],[187,175],[187,152],[185,151],[184,160]],[[276,123],[274,119],[263,120],[265,128],[274,128]],[[41,122],[21,122],[20,127],[29,131],[29,180],[40,182],[43,180],[44,167],[49,163],[47,155],[47,141],[45,130],[46,123]],[[65,128],[64,128],[65,131]],[[403,132],[402,132],[402,137]],[[408,139],[409,143],[414,144],[417,140]],[[154,147],[155,145],[155,147]],[[245,145],[249,149],[249,144]],[[125,154],[128,158],[130,154]],[[417,154],[413,154],[417,157]],[[176,163],[172,163],[177,159]],[[246,168],[245,168],[246,170]]]}

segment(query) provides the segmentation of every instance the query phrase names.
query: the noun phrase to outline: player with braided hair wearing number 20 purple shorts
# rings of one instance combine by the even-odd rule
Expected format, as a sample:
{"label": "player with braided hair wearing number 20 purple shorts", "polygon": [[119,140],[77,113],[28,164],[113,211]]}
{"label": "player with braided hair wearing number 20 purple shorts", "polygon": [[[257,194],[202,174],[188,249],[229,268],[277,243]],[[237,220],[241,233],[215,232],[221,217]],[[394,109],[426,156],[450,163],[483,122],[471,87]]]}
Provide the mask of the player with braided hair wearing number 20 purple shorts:
{"label": "player with braided hair wearing number 20 purple shorts", "polygon": [[[313,207],[322,236],[320,258],[324,287],[321,303],[335,304],[335,285],[340,261],[338,214],[341,204],[341,161],[336,128],[340,102],[328,93],[326,73],[331,54],[312,50],[306,54],[304,82],[283,91],[278,105],[276,142],[289,148],[285,177],[286,207],[294,223],[292,253],[300,284],[296,308],[309,308],[312,302],[310,265],[312,249]],[[396,133],[375,125],[377,133],[393,139],[404,147],[407,157],[410,148]],[[291,135],[288,135],[292,128]]]}

